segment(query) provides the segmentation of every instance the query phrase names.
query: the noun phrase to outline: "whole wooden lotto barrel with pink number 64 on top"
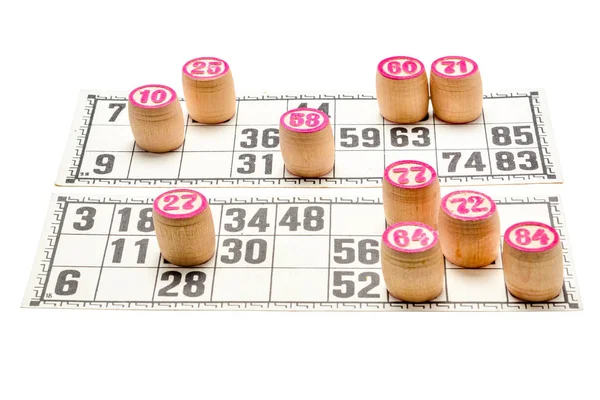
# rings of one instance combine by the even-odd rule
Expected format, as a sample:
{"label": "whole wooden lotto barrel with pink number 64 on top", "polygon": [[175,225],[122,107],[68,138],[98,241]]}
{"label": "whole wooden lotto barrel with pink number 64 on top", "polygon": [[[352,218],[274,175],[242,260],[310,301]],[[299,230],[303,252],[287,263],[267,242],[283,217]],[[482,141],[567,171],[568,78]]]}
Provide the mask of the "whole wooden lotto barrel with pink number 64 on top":
{"label": "whole wooden lotto barrel with pink number 64 on top", "polygon": [[409,302],[435,299],[444,288],[444,257],[437,232],[420,222],[399,222],[382,235],[381,269],[392,296]]}

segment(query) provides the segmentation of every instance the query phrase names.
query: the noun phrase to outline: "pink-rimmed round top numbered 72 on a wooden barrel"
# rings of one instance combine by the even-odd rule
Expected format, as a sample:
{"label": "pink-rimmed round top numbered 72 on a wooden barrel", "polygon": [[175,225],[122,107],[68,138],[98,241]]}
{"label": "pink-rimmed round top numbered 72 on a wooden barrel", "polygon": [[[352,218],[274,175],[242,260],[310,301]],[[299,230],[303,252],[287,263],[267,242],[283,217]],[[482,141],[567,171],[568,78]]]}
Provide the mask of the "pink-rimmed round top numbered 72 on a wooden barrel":
{"label": "pink-rimmed round top numbered 72 on a wooden barrel", "polygon": [[496,203],[481,192],[459,190],[444,196],[442,209],[453,218],[477,221],[492,215],[496,211]]}

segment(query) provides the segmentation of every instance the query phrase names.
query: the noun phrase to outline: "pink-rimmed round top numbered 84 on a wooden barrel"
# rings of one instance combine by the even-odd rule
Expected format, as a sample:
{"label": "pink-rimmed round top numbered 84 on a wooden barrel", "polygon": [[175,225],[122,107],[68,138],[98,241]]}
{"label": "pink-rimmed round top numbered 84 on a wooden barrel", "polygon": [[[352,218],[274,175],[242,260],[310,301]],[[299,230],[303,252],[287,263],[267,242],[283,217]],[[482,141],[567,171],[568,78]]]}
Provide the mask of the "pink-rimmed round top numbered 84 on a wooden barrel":
{"label": "pink-rimmed round top numbered 84 on a wooden barrel", "polygon": [[541,222],[519,222],[504,233],[504,239],[510,246],[522,251],[546,251],[559,241],[558,232]]}

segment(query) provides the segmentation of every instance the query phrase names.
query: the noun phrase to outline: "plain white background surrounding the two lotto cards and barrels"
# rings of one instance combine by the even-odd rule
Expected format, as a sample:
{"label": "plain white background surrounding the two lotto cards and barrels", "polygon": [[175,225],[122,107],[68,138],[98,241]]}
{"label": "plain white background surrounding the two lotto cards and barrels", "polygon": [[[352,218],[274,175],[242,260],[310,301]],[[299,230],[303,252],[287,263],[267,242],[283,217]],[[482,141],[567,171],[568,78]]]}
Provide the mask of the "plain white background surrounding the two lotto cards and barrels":
{"label": "plain white background surrounding the two lotto cards and barrels", "polygon": [[[597,398],[594,2],[90,3],[0,6],[3,398]],[[563,197],[584,311],[19,308],[80,89],[181,94],[183,63],[210,55],[238,94],[374,91],[397,54],[472,57],[486,92],[546,89],[566,183],[545,189]]]}

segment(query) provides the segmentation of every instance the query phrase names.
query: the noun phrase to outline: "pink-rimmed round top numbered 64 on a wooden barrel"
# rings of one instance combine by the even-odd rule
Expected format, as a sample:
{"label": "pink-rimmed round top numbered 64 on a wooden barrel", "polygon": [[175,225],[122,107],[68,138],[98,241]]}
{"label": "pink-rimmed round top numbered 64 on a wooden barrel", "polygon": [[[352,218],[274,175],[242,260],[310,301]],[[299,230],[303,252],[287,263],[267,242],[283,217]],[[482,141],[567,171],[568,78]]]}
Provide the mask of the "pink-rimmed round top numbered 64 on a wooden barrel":
{"label": "pink-rimmed round top numbered 64 on a wooden barrel", "polygon": [[391,249],[417,253],[435,246],[438,234],[432,227],[420,222],[399,222],[388,227],[382,239]]}

